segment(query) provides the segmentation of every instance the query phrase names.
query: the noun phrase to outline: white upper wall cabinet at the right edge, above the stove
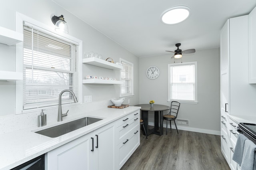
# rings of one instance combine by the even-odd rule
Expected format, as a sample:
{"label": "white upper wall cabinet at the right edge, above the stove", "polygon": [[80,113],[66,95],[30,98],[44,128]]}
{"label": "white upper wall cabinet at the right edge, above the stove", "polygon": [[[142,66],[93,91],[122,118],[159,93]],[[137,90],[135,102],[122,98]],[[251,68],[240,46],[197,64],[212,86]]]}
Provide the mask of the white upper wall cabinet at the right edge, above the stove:
{"label": "white upper wall cabinet at the right edge, above the stove", "polygon": [[256,83],[256,7],[248,15],[248,26],[249,26],[249,83]]}

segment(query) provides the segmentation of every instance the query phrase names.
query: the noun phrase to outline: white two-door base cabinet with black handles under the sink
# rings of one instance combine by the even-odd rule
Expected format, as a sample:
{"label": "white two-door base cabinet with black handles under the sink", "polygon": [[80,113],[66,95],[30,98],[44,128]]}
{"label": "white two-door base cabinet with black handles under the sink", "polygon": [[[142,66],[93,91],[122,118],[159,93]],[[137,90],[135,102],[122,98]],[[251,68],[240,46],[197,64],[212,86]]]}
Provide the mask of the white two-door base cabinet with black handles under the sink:
{"label": "white two-door base cabinet with black handles under the sink", "polygon": [[114,169],[114,123],[47,153],[48,170]]}

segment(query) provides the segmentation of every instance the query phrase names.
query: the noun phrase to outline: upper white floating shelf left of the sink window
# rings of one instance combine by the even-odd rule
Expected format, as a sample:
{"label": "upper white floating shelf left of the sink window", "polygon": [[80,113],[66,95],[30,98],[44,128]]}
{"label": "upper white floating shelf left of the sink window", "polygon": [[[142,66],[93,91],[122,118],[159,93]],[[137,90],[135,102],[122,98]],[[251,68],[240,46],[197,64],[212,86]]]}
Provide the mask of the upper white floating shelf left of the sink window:
{"label": "upper white floating shelf left of the sink window", "polygon": [[6,45],[15,45],[16,43],[23,41],[23,34],[9,30],[4,27],[0,27],[0,43]]}

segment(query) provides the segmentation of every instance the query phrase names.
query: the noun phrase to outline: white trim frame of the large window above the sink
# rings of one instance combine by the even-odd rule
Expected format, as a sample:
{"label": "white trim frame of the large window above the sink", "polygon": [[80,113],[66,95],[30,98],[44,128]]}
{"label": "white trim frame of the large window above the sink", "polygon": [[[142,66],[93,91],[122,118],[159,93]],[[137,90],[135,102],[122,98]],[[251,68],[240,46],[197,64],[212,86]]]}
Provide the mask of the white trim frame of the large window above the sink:
{"label": "white trim frame of the large window above the sink", "polygon": [[[27,22],[32,25],[35,25],[38,30],[41,30],[43,32],[47,32],[47,34],[54,36],[56,38],[76,43],[78,44],[78,103],[68,103],[65,104],[64,107],[72,106],[72,105],[78,105],[82,103],[82,40],[79,40],[77,38],[74,38],[68,34],[60,34],[55,32],[54,27],[49,27],[37,20],[34,20],[28,16],[25,16],[23,14],[20,14],[19,12],[16,12],[16,31],[23,33],[23,23]],[[16,44],[16,71],[23,73],[23,42],[20,42]],[[58,105],[54,106],[46,106],[46,107],[40,107],[40,108],[34,108],[34,109],[23,109],[23,80],[16,81],[16,115],[21,113],[29,113],[34,111],[39,111],[41,109],[54,109],[58,108]]]}

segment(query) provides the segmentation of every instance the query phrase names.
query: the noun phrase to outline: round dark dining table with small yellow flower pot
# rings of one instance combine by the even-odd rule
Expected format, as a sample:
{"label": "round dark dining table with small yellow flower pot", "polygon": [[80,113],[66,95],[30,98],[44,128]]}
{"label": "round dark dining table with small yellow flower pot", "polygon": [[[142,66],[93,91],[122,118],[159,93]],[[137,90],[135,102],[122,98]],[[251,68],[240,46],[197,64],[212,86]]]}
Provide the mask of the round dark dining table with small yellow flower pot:
{"label": "round dark dining table with small yellow flower pot", "polygon": [[[144,121],[144,127],[146,130],[147,135],[150,135],[152,133],[163,135],[164,129],[163,129],[163,123],[164,123],[164,111],[170,110],[170,106],[166,105],[157,105],[154,104],[153,107],[150,106],[150,104],[140,104],[135,105],[138,107],[141,107],[141,119]],[[154,128],[149,129],[148,128],[148,114],[150,111],[154,112]],[[160,127],[159,127],[160,122]]]}

